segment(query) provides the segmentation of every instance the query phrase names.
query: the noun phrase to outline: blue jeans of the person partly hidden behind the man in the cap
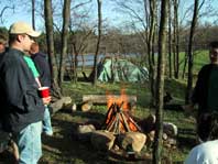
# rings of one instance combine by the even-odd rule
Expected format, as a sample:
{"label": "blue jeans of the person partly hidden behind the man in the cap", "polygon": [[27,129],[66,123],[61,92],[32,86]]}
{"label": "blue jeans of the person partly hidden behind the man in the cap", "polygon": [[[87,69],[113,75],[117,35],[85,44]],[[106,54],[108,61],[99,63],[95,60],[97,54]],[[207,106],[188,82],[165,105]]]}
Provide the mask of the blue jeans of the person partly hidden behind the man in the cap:
{"label": "blue jeans of the person partly hidden behind the man in the cap", "polygon": [[44,118],[43,118],[43,132],[47,135],[53,134],[51,116],[50,116],[50,110],[47,106],[45,106],[45,112],[44,112]]}

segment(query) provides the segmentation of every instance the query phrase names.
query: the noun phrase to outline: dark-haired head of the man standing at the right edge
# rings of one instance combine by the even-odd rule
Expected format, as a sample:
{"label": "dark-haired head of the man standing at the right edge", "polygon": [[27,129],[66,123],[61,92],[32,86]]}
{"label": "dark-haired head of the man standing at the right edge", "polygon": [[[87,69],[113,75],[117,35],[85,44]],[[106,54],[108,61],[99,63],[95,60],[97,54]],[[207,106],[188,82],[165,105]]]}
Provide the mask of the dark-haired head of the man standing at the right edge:
{"label": "dark-haired head of the man standing at the right edge", "polygon": [[209,43],[209,58],[211,64],[218,65],[218,41]]}

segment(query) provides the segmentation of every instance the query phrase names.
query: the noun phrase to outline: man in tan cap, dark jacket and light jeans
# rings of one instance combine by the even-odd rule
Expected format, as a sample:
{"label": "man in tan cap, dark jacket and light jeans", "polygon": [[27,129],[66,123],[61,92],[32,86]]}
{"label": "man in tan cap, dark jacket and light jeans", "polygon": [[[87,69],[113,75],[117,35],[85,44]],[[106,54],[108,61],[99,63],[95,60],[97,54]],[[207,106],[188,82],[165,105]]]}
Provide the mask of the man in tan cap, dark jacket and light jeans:
{"label": "man in tan cap, dark jacket and light jeans", "polygon": [[42,155],[41,131],[44,105],[37,84],[23,59],[33,37],[40,35],[25,22],[17,22],[9,30],[9,48],[0,55],[0,116],[2,129],[11,132],[19,147],[19,163],[36,164]]}

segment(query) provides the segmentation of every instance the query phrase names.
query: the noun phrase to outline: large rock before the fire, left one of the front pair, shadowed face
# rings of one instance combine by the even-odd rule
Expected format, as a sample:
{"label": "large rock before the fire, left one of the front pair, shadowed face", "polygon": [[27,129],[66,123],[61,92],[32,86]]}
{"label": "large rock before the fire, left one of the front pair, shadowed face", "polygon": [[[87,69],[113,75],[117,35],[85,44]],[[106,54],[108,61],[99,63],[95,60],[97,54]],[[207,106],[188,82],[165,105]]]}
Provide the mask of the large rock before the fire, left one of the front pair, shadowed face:
{"label": "large rock before the fire, left one of the front pair, shadowed face", "polygon": [[97,130],[91,133],[91,144],[96,150],[109,151],[115,143],[116,136],[112,132]]}

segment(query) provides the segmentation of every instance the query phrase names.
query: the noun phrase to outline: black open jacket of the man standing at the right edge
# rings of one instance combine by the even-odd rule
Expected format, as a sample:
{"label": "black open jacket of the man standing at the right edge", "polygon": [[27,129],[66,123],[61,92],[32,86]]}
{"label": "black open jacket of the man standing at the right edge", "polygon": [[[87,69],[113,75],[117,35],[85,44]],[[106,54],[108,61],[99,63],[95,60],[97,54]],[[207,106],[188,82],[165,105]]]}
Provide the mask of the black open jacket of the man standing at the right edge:
{"label": "black open jacket of the man standing at the right edge", "polygon": [[192,96],[193,103],[198,103],[198,114],[207,112],[208,83],[212,64],[205,65],[198,73],[197,83]]}

